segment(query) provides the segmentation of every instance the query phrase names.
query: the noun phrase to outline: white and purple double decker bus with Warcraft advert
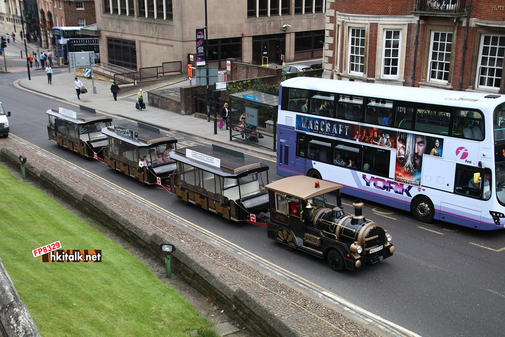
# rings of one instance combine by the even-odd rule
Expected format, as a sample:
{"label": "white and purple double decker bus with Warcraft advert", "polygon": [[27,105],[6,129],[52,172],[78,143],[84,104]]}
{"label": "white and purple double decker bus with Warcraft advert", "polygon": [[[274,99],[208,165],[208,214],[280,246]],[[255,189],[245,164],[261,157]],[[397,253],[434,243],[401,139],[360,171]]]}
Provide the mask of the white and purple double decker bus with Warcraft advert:
{"label": "white and purple double decker bus with Warcraft advert", "polygon": [[505,225],[505,95],[295,77],[279,90],[277,174],[480,230]]}

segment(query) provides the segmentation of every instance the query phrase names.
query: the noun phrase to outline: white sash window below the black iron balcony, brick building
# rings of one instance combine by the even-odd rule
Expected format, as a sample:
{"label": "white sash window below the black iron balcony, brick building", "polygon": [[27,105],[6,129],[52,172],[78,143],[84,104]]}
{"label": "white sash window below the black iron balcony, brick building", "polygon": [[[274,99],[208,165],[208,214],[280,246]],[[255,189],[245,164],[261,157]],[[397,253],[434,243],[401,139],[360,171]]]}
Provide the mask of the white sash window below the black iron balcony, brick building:
{"label": "white sash window below the black iron balcony, brick building", "polygon": [[431,32],[428,80],[447,83],[449,80],[452,33]]}

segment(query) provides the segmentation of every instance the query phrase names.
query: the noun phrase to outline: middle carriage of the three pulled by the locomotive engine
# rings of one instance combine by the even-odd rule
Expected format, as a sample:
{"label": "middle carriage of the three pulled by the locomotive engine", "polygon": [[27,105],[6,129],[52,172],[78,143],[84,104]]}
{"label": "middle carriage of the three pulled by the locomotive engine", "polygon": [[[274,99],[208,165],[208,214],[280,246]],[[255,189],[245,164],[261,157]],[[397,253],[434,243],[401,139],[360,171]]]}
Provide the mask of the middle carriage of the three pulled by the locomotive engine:
{"label": "middle carriage of the three pulled by the locomotive engine", "polygon": [[107,166],[145,184],[168,185],[176,169],[170,152],[177,139],[162,135],[160,129],[142,123],[123,123],[102,129],[107,136],[104,148]]}

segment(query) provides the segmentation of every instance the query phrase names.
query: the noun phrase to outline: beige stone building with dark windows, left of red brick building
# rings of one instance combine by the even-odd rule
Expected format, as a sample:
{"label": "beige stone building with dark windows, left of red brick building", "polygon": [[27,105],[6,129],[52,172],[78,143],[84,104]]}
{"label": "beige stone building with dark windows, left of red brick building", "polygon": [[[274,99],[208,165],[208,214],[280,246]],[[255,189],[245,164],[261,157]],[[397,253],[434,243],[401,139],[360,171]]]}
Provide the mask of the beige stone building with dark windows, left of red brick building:
{"label": "beige stone building with dark windows, left of red brick building", "polygon": [[185,67],[206,12],[210,66],[223,69],[227,58],[271,65],[282,64],[282,56],[322,58],[325,6],[324,0],[95,1],[102,61],[129,69],[168,61]]}

